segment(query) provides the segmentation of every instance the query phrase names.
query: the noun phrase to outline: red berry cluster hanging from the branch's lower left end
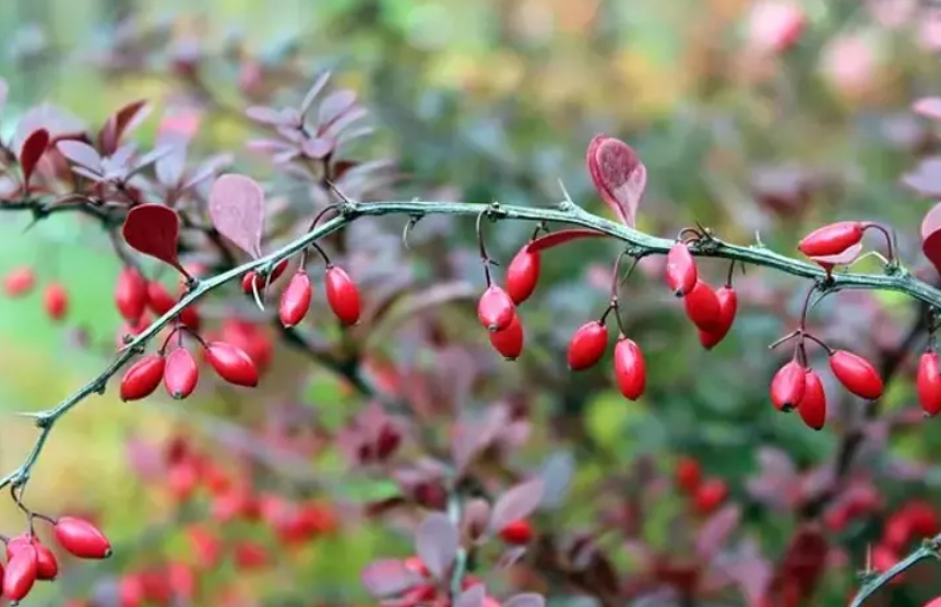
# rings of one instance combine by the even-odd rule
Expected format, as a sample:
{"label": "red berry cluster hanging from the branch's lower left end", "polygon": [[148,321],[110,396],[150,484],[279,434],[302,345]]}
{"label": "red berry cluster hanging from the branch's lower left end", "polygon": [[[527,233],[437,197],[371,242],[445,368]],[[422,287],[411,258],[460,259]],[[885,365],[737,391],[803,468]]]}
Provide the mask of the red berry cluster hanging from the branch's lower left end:
{"label": "red berry cluster hanging from the branch's lower left end", "polygon": [[[80,559],[104,559],[111,555],[111,545],[98,528],[83,519],[62,516],[45,519],[52,523],[58,545]],[[16,537],[2,538],[7,545],[7,566],[0,564],[2,596],[12,605],[23,600],[37,581],[52,581],[59,574],[59,561],[31,528]]]}

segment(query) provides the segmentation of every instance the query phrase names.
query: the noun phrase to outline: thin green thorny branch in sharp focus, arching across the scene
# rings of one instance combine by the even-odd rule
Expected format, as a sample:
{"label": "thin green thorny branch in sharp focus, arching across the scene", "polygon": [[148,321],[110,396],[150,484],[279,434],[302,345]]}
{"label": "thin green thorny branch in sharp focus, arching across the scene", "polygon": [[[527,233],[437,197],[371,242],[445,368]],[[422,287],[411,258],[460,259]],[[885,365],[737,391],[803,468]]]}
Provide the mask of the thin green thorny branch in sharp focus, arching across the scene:
{"label": "thin green thorny branch in sharp focus, arching across the scene", "polygon": [[[405,215],[420,217],[424,215],[465,215],[477,216],[486,213],[490,219],[514,219],[531,222],[557,222],[595,229],[628,245],[631,255],[641,258],[650,254],[666,253],[674,241],[658,238],[638,231],[608,219],[593,215],[571,202],[561,202],[555,209],[511,206],[501,204],[475,204],[466,202],[422,202],[422,201],[392,201],[392,202],[353,202],[346,201],[340,207],[340,215],[322,223],[320,226],[300,236],[294,241],[285,245],[277,251],[269,253],[257,260],[233,267],[212,278],[198,282],[167,313],[155,320],[147,329],[130,341],[111,361],[110,365],[96,378],[91,380],[75,393],[63,400],[50,409],[46,409],[32,417],[36,419],[39,428],[39,437],[26,456],[23,464],[15,471],[0,479],[0,489],[8,485],[22,486],[29,478],[29,473],[35,465],[48,437],[56,424],[64,414],[71,410],[80,402],[93,393],[103,393],[108,380],[127,364],[134,355],[144,352],[147,343],[154,338],[159,331],[176,319],[179,313],[198,301],[217,287],[241,277],[250,270],[262,267],[273,269],[281,260],[294,255],[318,239],[342,229],[347,224],[359,217],[382,215]],[[892,274],[838,274],[827,276],[824,271],[810,263],[798,261],[793,258],[775,253],[762,246],[742,247],[729,245],[716,238],[706,238],[691,245],[693,254],[706,258],[720,258],[737,260],[743,263],[771,267],[802,278],[818,281],[821,288],[836,291],[846,288],[893,290],[904,293],[914,299],[941,308],[941,290],[917,279],[903,270],[896,270]]]}

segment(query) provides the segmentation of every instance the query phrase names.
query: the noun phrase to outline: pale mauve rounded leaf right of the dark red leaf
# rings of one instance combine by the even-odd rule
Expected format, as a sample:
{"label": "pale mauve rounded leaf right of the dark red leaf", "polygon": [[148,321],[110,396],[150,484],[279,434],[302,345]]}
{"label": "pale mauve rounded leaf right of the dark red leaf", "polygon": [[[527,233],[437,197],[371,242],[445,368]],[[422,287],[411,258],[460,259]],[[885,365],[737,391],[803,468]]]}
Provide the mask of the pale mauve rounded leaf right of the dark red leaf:
{"label": "pale mauve rounded leaf right of the dark red leaf", "polygon": [[245,175],[223,175],[210,191],[210,217],[219,234],[239,249],[261,257],[264,229],[264,191]]}

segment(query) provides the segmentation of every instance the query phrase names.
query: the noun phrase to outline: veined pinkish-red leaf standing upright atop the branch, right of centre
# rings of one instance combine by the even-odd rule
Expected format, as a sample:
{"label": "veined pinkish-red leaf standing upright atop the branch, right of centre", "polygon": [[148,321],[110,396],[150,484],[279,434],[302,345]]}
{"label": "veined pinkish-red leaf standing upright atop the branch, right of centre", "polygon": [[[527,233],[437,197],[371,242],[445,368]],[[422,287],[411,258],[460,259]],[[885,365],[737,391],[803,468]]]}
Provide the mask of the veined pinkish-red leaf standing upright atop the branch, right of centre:
{"label": "veined pinkish-red leaf standing upright atop the branch, right of centre", "polygon": [[595,189],[626,225],[633,227],[647,185],[647,169],[627,143],[595,135],[585,164]]}

